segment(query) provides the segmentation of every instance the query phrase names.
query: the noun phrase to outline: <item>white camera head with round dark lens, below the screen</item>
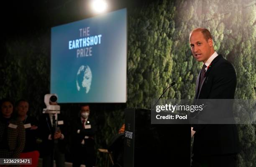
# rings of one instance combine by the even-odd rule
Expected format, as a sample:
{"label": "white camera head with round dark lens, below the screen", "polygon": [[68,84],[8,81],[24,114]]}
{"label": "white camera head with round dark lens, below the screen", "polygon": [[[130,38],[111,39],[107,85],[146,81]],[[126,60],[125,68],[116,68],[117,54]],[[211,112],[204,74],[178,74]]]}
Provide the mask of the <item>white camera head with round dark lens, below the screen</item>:
{"label": "white camera head with round dark lens, below the screen", "polygon": [[43,110],[43,113],[51,113],[51,114],[59,114],[60,106],[52,105],[51,103],[56,103],[58,100],[57,94],[46,94],[44,95],[44,103],[46,105],[46,109]]}

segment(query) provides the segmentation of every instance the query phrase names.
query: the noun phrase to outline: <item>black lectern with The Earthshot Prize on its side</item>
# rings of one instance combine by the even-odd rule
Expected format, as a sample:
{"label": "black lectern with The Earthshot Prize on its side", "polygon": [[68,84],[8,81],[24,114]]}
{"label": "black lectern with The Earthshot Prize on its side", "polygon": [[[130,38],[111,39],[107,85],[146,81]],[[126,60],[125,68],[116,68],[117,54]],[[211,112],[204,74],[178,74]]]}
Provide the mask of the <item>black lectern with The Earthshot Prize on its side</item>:
{"label": "black lectern with The Earthshot Prize on its side", "polygon": [[151,111],[125,109],[124,167],[189,167],[190,124],[151,124]]}

